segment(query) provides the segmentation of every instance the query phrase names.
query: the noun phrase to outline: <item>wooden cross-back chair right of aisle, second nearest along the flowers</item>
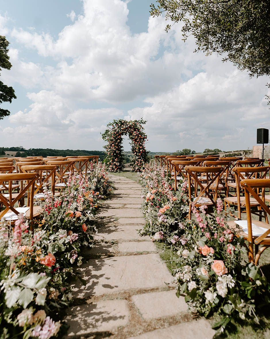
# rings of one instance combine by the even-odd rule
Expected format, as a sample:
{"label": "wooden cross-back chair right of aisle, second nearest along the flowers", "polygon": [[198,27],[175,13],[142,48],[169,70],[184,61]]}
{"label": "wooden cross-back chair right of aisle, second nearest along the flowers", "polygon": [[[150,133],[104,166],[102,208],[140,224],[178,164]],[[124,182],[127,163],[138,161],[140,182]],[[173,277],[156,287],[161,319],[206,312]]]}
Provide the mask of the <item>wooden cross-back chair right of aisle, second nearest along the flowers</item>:
{"label": "wooden cross-back chair right of aisle, second nearest along the flowers", "polygon": [[[188,218],[191,220],[192,205],[195,207],[206,205],[207,208],[216,205],[216,200],[218,197],[218,182],[223,168],[186,166],[185,169],[187,172],[188,197],[190,200]],[[203,186],[202,182],[200,181],[202,176],[206,177],[206,186]],[[210,187],[213,186],[215,188],[212,190],[212,192],[209,192]],[[200,192],[198,192],[198,188]]]}

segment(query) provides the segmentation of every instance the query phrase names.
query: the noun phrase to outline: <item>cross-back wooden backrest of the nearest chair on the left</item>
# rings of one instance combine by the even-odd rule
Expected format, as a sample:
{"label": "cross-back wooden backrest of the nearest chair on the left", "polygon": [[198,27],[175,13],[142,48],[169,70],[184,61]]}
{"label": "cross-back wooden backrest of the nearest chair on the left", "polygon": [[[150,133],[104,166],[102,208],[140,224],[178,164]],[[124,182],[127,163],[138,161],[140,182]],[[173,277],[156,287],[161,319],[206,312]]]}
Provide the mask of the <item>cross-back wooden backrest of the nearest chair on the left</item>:
{"label": "cross-back wooden backrest of the nearest chair on the left", "polygon": [[[9,199],[4,197],[4,195],[0,192],[0,201],[5,206],[5,209],[0,212],[0,219],[9,211],[14,212],[15,214],[19,214],[15,209],[15,204],[24,197],[27,193],[29,195],[29,206],[30,207],[30,228],[33,230],[32,221],[33,221],[33,202],[34,202],[34,187],[35,180],[37,179],[37,173],[10,173],[10,174],[0,174],[0,183],[8,182],[9,183]],[[22,188],[20,193],[17,195],[15,199],[12,199],[12,182],[13,181],[26,181],[25,186]]]}

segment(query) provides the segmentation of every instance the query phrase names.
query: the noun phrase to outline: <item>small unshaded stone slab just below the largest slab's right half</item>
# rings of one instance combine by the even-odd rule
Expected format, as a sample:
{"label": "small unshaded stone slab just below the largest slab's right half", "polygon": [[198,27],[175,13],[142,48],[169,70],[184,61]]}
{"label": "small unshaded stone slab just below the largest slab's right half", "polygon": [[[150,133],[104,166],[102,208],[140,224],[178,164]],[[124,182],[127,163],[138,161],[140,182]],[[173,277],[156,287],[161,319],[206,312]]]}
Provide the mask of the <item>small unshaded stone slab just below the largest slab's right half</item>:
{"label": "small unshaded stone slab just below the largest slab's right half", "polygon": [[131,299],[146,320],[187,313],[185,298],[181,296],[177,298],[175,292],[172,290],[138,294]]}

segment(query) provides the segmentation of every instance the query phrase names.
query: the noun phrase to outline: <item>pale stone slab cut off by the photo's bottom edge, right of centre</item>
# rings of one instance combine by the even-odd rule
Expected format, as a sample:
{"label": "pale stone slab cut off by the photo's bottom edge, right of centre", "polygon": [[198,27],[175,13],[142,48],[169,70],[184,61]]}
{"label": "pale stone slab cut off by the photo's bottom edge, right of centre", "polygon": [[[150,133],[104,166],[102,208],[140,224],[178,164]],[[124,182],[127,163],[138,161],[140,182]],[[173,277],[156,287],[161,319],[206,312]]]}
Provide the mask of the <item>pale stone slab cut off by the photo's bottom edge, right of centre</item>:
{"label": "pale stone slab cut off by the photo's bottom edge, right of centre", "polygon": [[205,319],[162,328],[128,339],[212,339],[215,331]]}

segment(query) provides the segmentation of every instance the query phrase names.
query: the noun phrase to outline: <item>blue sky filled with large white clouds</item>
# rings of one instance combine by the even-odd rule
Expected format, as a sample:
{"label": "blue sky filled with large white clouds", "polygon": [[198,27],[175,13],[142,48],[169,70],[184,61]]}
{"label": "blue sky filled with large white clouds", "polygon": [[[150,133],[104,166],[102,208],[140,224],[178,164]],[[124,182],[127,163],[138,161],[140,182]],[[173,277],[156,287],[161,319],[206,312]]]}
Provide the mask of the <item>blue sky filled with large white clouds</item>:
{"label": "blue sky filled with large white clouds", "polygon": [[102,149],[112,119],[143,117],[150,151],[252,147],[269,125],[267,79],[193,53],[151,2],[1,0],[13,64],[1,80],[17,99],[2,105],[0,145]]}

